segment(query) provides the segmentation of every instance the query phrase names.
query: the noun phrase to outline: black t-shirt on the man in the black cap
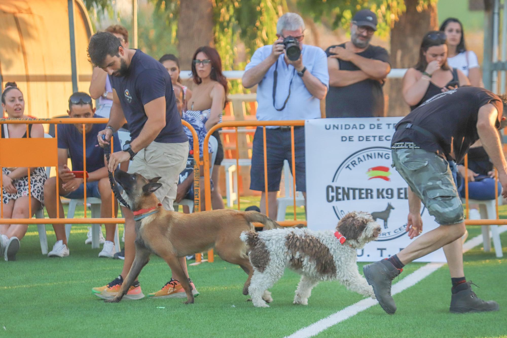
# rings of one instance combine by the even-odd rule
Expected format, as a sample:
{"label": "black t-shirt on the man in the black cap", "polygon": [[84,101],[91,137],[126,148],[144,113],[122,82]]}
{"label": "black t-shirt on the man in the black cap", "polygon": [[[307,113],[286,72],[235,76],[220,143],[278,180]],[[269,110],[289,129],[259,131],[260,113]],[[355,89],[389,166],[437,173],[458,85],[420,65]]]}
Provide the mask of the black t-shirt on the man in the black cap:
{"label": "black t-shirt on the man in the black cap", "polygon": [[[334,55],[329,50],[343,47],[345,44],[333,45],[325,50],[327,56]],[[389,62],[389,54],[380,46],[368,46],[359,56]],[[359,71],[359,67],[350,61],[336,59],[341,71]],[[329,86],[325,96],[326,117],[378,117],[384,115],[384,94],[382,84],[377,80],[366,79],[345,87]]]}

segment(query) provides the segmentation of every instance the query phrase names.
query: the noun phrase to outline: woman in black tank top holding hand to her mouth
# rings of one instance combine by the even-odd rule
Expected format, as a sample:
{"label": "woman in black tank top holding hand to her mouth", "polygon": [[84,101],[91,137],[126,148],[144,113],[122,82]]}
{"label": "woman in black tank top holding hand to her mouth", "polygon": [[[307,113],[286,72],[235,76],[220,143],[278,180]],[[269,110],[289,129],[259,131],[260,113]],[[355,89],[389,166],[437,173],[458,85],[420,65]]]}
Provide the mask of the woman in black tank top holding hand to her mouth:
{"label": "woman in black tank top holding hand to her mouth", "polygon": [[417,64],[403,77],[403,98],[410,110],[442,92],[470,85],[467,77],[447,64],[447,41],[442,31],[430,31],[422,39]]}

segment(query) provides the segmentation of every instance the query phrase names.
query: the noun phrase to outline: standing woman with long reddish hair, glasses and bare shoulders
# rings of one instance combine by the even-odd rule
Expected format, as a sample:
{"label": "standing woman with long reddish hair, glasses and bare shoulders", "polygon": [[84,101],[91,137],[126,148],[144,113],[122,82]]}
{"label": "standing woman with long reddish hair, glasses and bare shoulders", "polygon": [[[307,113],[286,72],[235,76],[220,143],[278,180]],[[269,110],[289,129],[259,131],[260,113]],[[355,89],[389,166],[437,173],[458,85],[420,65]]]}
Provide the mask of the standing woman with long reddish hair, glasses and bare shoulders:
{"label": "standing woman with long reddish hair, glasses and bare shoulders", "polygon": [[[199,118],[206,129],[222,122],[222,111],[227,103],[227,79],[222,74],[222,60],[216,49],[199,47],[192,58],[192,75],[197,86],[187,103],[187,114]],[[211,190],[211,206],[213,209],[224,209],[224,200],[219,191],[219,169],[224,159],[224,147],[218,130],[213,132],[218,141],[215,162],[211,180],[214,189]]]}

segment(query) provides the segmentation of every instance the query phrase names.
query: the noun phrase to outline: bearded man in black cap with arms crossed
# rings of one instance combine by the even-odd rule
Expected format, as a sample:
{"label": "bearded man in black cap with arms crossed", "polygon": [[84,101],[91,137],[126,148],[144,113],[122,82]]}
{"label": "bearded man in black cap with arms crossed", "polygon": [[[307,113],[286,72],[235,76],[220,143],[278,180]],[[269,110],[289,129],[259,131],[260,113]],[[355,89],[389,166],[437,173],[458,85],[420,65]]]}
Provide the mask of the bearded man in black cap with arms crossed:
{"label": "bearded man in black cap with arms crossed", "polygon": [[326,117],[384,116],[382,86],[391,70],[389,54],[370,45],[377,30],[377,16],[360,10],[352,18],[350,41],[329,47],[329,92]]}

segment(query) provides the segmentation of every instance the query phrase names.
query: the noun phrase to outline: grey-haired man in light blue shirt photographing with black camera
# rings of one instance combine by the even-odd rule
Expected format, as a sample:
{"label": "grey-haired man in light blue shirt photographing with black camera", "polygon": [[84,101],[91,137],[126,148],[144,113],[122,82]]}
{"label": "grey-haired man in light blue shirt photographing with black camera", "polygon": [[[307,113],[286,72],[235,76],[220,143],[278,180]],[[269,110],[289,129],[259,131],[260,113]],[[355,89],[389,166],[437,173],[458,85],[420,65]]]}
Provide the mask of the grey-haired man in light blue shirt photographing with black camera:
{"label": "grey-haired man in light blue shirt photographing with black camera", "polygon": [[[245,88],[257,88],[257,120],[304,120],[320,118],[320,102],[328,91],[329,74],[325,53],[318,47],[303,45],[305,24],[296,13],[285,13],[276,25],[278,40],[259,48],[245,67]],[[299,49],[299,51],[298,51]],[[299,55],[298,55],[299,54]],[[276,194],[280,186],[283,160],[292,163],[291,127],[266,128],[269,214],[276,215]],[[294,127],[296,190],[306,197],[305,131]],[[292,168],[291,168],[292,170]],[[263,191],[263,129],[253,138],[250,189]],[[266,213],[266,192],[262,192],[261,211]]]}

